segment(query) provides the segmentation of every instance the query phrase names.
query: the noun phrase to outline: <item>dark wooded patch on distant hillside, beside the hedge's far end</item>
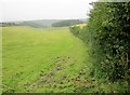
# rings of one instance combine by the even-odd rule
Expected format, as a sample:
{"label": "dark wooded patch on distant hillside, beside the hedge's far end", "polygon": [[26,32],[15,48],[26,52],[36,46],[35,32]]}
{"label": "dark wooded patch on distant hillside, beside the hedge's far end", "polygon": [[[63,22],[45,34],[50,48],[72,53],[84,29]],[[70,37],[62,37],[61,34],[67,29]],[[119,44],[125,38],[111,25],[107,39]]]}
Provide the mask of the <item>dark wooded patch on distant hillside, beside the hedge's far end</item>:
{"label": "dark wooded patch on distant hillside, beside the hedge's far end", "polygon": [[65,21],[53,23],[52,27],[66,27],[66,26],[73,26],[76,24],[83,24],[83,22],[80,19],[65,19]]}

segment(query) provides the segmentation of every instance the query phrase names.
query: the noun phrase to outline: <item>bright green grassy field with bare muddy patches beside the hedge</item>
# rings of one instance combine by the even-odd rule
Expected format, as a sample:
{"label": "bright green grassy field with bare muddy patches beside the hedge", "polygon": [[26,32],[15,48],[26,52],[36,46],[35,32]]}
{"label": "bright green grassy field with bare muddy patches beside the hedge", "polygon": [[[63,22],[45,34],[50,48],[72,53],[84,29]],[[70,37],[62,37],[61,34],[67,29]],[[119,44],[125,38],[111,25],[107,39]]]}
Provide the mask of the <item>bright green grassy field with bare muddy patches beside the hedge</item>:
{"label": "bright green grassy field with bare muddy patches beside the hedge", "polygon": [[3,92],[75,92],[87,84],[87,46],[68,28],[2,28]]}

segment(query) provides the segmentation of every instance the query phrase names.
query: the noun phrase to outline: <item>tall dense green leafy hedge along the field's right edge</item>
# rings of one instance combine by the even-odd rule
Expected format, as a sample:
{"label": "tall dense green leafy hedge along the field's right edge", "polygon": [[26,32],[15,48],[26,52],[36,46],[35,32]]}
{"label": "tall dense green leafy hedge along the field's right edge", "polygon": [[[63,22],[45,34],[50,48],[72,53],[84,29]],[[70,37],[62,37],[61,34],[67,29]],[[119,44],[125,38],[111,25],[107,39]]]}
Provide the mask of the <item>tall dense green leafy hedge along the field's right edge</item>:
{"label": "tall dense green leafy hedge along the field's right edge", "polygon": [[94,2],[90,19],[82,29],[70,31],[90,44],[91,74],[110,81],[130,80],[130,2]]}

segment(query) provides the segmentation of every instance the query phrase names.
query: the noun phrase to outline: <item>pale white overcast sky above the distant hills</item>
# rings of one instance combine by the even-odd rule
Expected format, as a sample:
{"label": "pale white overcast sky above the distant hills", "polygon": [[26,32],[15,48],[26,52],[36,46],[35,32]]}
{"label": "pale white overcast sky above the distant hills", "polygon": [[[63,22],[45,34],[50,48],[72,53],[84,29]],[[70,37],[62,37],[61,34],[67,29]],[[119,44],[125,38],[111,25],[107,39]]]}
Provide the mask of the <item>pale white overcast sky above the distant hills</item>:
{"label": "pale white overcast sky above the distant hills", "polygon": [[0,22],[87,18],[96,0],[0,0]]}

